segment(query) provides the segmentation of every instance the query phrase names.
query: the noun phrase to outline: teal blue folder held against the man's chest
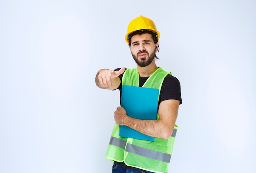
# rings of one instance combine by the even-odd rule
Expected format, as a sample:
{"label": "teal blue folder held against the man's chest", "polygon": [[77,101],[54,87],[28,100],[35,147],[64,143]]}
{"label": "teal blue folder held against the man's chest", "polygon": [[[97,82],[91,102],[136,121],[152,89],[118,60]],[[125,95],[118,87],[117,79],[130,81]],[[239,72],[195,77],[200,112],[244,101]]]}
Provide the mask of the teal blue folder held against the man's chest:
{"label": "teal blue folder held against the man's chest", "polygon": [[[136,86],[122,86],[121,107],[128,116],[141,120],[156,120],[159,89]],[[120,136],[154,141],[155,137],[147,136],[128,126],[120,126]]]}

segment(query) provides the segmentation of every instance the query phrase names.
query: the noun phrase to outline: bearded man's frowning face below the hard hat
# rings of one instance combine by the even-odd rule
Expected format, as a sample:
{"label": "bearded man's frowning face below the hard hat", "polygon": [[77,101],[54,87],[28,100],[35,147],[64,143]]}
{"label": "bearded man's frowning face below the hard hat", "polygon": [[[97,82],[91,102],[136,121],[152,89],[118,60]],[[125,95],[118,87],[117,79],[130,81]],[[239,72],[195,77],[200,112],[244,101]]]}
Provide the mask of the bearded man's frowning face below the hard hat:
{"label": "bearded man's frowning face below the hard hat", "polygon": [[130,51],[135,62],[140,67],[146,67],[155,59],[158,42],[155,44],[151,34],[134,35],[131,40]]}

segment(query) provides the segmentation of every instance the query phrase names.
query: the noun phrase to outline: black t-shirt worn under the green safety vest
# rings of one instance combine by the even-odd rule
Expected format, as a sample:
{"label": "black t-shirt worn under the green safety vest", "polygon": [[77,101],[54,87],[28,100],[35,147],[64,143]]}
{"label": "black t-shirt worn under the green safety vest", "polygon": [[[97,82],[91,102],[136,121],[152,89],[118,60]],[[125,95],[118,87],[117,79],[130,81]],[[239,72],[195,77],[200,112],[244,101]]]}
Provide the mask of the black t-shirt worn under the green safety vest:
{"label": "black t-shirt worn under the green safety vest", "polygon": [[[117,68],[115,70],[120,70],[120,68]],[[121,80],[121,83],[118,87],[118,89],[120,90],[120,100],[121,100],[121,93],[122,93],[123,74],[119,75],[119,78]],[[146,80],[148,78],[149,77],[139,77],[139,86],[141,87],[142,85],[144,85],[144,83],[146,82]],[[180,104],[182,104],[181,92],[180,92],[180,81],[176,77],[172,76],[171,74],[167,74],[167,76],[164,78],[164,81],[162,83],[159,101],[158,101],[158,107],[159,107],[161,101],[169,100],[169,99],[178,100],[178,101],[180,101]],[[135,168],[135,167],[127,166],[124,162],[115,162],[115,163],[124,167],[125,169],[143,171],[143,170]]]}

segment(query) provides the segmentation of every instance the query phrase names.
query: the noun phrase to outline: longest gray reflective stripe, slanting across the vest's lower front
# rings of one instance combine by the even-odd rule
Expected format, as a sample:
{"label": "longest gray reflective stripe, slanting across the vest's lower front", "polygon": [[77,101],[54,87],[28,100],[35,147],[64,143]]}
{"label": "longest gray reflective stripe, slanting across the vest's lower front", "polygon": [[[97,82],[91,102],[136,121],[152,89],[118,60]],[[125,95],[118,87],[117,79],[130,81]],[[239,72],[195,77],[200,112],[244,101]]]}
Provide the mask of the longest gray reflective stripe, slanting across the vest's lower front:
{"label": "longest gray reflective stripe, slanting across the vest's lower front", "polygon": [[146,158],[151,158],[166,163],[169,163],[171,160],[171,154],[166,154],[159,151],[146,149],[143,147],[138,147],[136,145],[132,145],[129,143],[126,145],[126,151],[129,153],[137,154]]}

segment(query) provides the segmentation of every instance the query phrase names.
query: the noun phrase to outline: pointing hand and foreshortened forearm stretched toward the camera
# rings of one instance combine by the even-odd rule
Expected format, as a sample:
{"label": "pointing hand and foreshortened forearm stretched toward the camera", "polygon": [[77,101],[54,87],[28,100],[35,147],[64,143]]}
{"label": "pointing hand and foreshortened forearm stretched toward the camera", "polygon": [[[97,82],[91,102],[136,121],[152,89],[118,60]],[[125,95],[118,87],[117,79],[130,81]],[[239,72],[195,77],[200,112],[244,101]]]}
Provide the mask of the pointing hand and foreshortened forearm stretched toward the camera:
{"label": "pointing hand and foreshortened forearm stretched toward the camera", "polygon": [[119,87],[121,80],[119,79],[119,75],[123,74],[125,68],[121,68],[118,71],[101,69],[97,72],[95,77],[95,83],[99,88],[115,90]]}

